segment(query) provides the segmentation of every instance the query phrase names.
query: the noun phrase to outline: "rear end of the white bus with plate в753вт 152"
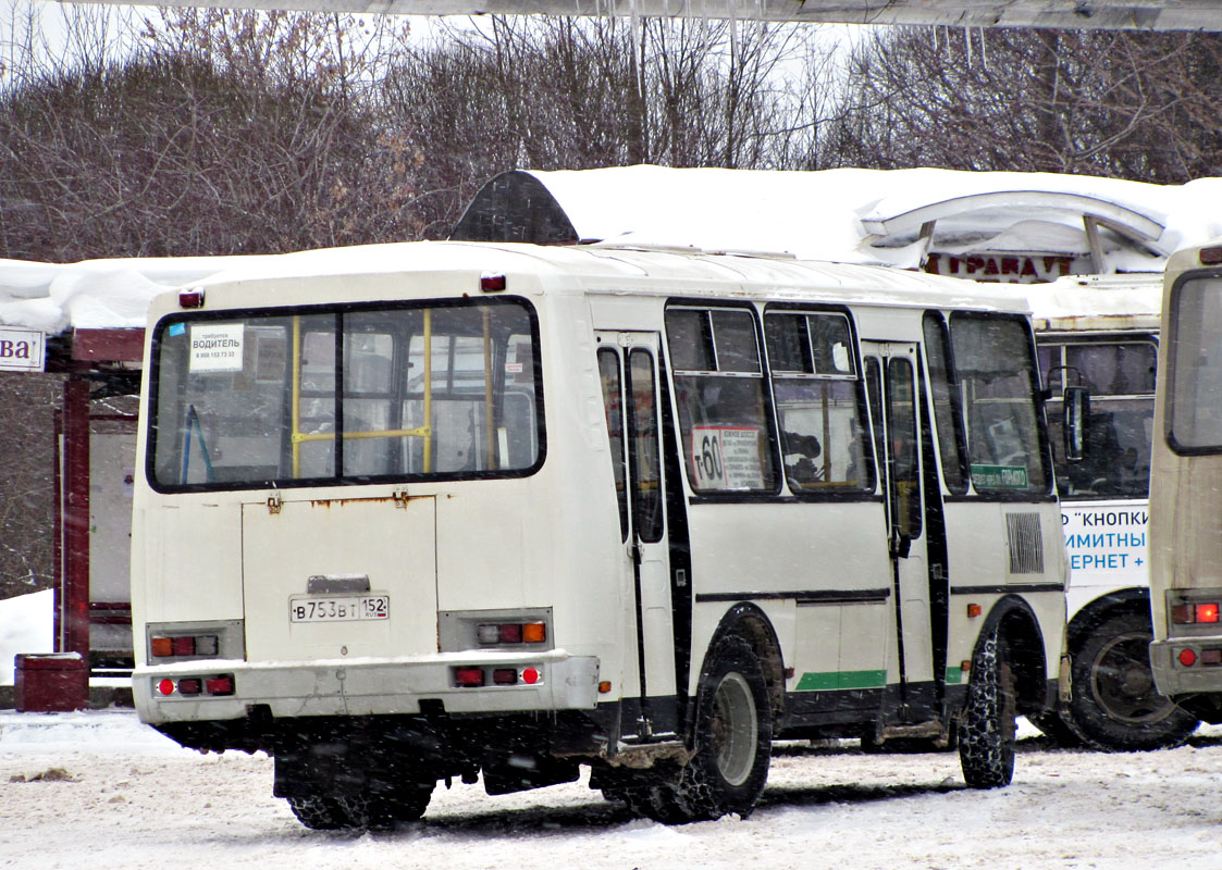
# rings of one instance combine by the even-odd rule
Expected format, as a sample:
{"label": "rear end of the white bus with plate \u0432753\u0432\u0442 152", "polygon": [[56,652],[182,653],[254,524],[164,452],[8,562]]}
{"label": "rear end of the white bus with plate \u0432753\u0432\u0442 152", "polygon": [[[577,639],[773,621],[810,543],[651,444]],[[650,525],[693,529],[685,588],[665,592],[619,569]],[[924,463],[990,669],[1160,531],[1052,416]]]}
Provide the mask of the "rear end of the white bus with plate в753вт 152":
{"label": "rear end of the white bus with plate \u0432753\u0432\u0442 152", "polygon": [[[607,478],[582,486],[606,523],[556,496],[574,463],[543,425],[543,297],[503,281],[248,281],[155,303],[136,703],[185,745],[273,753],[307,825],[378,821],[369,794],[382,821],[414,817],[451,776],[494,793],[576,780],[565,759],[605,744],[620,604],[594,566],[622,561],[615,490],[587,472]],[[578,375],[554,380],[579,395]],[[582,524],[607,533],[566,545]]]}

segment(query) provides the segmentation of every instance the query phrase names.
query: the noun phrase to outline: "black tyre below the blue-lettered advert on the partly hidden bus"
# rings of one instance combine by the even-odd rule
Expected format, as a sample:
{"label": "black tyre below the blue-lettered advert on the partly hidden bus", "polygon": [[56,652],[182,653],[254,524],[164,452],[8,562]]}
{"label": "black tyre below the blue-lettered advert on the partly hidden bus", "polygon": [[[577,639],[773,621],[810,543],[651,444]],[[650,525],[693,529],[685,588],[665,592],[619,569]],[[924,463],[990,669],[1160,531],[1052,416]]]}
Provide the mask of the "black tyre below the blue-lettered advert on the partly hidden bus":
{"label": "black tyre below the blue-lettered advert on the partly hidden bus", "polygon": [[1150,617],[1118,612],[1103,620],[1073,654],[1073,694],[1066,723],[1083,743],[1105,751],[1179,745],[1199,725],[1158,694],[1150,671]]}

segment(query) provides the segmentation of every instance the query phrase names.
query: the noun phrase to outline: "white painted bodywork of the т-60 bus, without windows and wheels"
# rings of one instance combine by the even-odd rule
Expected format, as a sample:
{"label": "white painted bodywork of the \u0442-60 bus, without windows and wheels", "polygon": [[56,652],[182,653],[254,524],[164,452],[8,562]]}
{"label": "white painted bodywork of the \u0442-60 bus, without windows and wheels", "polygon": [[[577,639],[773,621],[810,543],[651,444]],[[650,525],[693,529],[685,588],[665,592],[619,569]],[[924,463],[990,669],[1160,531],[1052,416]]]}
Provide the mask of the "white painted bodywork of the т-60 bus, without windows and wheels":
{"label": "white painted bodywork of the \u0442-60 bus, without windows and wheels", "polygon": [[[365,257],[295,255],[266,279],[229,283],[221,277],[207,288],[209,307],[241,310],[290,301],[296,305],[452,298],[477,293],[483,272],[507,274],[510,292],[528,298],[539,319],[547,431],[555,435],[547,441],[546,461],[521,479],[407,486],[171,497],[138,485],[133,685],[144,721],[237,718],[247,715],[248,699],[270,704],[279,717],[418,712],[422,698],[440,699],[446,711],[456,712],[589,710],[634,695],[639,692],[633,652],[638,638],[631,618],[631,568],[618,535],[594,330],[661,334],[666,297],[723,293],[747,275],[758,282],[753,290],[738,291],[738,298],[747,302],[755,297],[818,301],[822,293],[826,302],[844,304],[847,297],[864,297],[864,304],[853,304],[864,338],[919,343],[920,307],[946,307],[945,294],[931,288],[925,276],[884,270],[870,274],[874,283],[862,287],[854,282],[869,272],[783,261],[676,255],[671,263],[657,254],[541,253],[513,246],[390,247],[370,249]],[[310,277],[332,261],[345,274]],[[811,288],[819,281],[826,291]],[[805,290],[787,290],[791,286]],[[543,287],[547,294],[539,292]],[[996,310],[1022,310],[1006,292],[997,291]],[[623,296],[609,302],[615,293]],[[991,305],[979,303],[981,310],[995,310]],[[154,304],[153,321],[177,310],[174,297],[163,297]],[[147,403],[144,397],[145,417]],[[137,463],[143,475],[143,439]],[[269,500],[276,503],[269,507]],[[893,598],[886,604],[820,606],[767,595],[818,590],[824,583],[849,590],[890,589],[880,501],[693,503],[688,513],[698,595],[743,593],[754,600],[752,593],[764,593],[756,604],[777,633],[785,666],[793,668],[788,690],[803,690],[808,674],[880,671],[885,685],[896,682],[897,651],[890,640]],[[1037,514],[1042,565],[1037,574],[1012,574],[1009,554],[996,545],[1006,538],[1012,513]],[[967,681],[960,662],[971,659],[982,624],[979,616],[967,616],[967,604],[981,605],[987,616],[1011,585],[1036,611],[1044,629],[1044,676],[1055,681],[1064,609],[1059,594],[1064,551],[1055,500],[949,501],[946,521],[952,584],[947,683]],[[793,547],[794,540],[805,544]],[[368,577],[370,591],[389,595],[391,618],[370,620],[357,634],[351,626],[340,631],[335,624],[292,623],[292,596],[306,591],[310,577],[326,576]],[[163,582],[165,577],[175,577],[172,585]],[[1031,584],[1047,584],[1048,590],[1033,590]],[[958,587],[967,591],[956,593]],[[1026,594],[1031,591],[1037,594]],[[646,620],[665,621],[662,605],[646,606]],[[910,650],[908,678],[927,681],[934,670],[927,594],[906,598],[903,606],[904,620],[915,623],[910,628],[919,633],[924,623],[926,638]],[[545,652],[440,651],[439,613],[521,607],[551,609],[549,640],[554,645]],[[688,693],[697,689],[705,652],[728,607],[725,600],[697,598],[692,637],[675,639],[690,644]],[[199,620],[244,621],[244,660],[148,665],[145,627]],[[664,633],[661,622],[657,628]],[[838,642],[827,643],[831,637]],[[673,660],[673,649],[649,646],[649,655],[660,656],[659,663]],[[540,667],[545,676],[535,685],[512,689],[453,688],[453,667],[497,656],[506,663]],[[158,696],[159,681],[200,668],[238,674],[242,694],[205,700]],[[602,694],[601,682],[610,683]],[[664,683],[657,694],[675,690]],[[650,694],[655,694],[653,685]]]}

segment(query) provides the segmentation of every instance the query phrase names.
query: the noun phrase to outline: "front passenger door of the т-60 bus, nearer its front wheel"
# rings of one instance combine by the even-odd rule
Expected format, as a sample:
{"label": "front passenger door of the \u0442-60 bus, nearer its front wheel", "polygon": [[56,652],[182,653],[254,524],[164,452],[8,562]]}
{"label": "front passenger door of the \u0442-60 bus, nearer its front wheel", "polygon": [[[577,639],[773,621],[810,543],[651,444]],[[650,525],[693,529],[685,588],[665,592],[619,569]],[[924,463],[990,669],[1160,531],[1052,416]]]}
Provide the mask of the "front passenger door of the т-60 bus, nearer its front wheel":
{"label": "front passenger door of the \u0442-60 bus, nearer its front wheel", "polygon": [[[907,342],[863,342],[870,414],[887,502],[886,534],[899,668],[898,698],[885,701],[884,722],[887,725],[932,721],[938,710],[930,623],[927,523],[921,491],[923,462],[932,462],[932,457],[923,451],[923,445],[930,440],[923,437],[929,422],[916,401],[920,395],[916,349],[916,345]],[[940,494],[934,500],[940,510]]]}

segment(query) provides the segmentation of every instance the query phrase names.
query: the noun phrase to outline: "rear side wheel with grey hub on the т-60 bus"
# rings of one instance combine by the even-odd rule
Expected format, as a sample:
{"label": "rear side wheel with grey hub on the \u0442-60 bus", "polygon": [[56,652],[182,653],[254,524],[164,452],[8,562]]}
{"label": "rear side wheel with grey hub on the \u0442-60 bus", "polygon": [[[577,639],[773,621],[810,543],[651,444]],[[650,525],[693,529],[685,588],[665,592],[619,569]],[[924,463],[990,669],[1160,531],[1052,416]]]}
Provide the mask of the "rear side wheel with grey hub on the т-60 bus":
{"label": "rear side wheel with grey hub on the \u0442-60 bus", "polygon": [[739,637],[717,643],[697,692],[695,755],[677,781],[628,788],[639,815],[667,825],[750,815],[767,781],[772,716],[764,668]]}

